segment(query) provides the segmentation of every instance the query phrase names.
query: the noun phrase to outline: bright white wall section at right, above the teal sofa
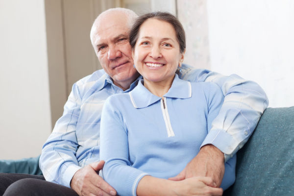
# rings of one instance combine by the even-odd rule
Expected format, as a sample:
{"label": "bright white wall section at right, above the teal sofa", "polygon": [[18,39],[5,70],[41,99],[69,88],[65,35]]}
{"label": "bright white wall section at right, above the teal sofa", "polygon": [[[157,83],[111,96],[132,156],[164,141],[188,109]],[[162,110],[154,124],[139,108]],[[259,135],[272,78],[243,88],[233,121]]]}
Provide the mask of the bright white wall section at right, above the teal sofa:
{"label": "bright white wall section at right, above the teal sofa", "polygon": [[256,81],[270,107],[294,105],[294,1],[208,0],[211,69]]}

